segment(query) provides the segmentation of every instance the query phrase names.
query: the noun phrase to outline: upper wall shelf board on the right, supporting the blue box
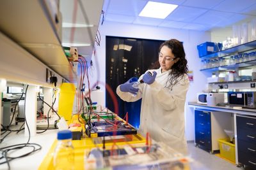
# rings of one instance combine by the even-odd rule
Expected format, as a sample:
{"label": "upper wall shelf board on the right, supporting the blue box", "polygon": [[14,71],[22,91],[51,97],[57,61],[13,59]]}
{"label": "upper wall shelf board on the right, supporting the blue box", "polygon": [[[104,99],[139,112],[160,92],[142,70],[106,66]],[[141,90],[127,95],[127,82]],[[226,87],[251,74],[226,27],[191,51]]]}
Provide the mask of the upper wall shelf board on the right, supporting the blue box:
{"label": "upper wall shelf board on the right, supporting the blue box", "polygon": [[248,43],[244,43],[243,45],[237,45],[233,46],[231,48],[227,48],[225,50],[221,50],[220,52],[211,53],[209,55],[205,55],[204,57],[201,57],[201,60],[209,59],[213,57],[226,57],[228,55],[232,55],[234,53],[241,53],[246,52],[248,50],[253,50],[256,48],[256,40],[250,41]]}

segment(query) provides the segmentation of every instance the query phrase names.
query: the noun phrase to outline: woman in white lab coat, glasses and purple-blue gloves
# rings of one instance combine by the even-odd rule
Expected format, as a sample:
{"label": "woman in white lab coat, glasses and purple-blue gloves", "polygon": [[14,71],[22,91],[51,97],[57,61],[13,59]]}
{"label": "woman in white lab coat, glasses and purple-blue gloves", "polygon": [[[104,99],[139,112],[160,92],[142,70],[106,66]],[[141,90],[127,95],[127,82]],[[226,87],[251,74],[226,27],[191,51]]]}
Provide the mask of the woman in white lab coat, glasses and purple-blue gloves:
{"label": "woman in white lab coat, glasses and purple-blue gloves", "polygon": [[189,87],[187,63],[182,43],[170,39],[159,47],[158,69],[140,76],[139,81],[142,79],[144,83],[139,89],[132,87],[132,78],[116,89],[124,101],[142,98],[139,132],[143,136],[149,132],[155,141],[164,142],[184,154],[188,150],[184,136],[184,104]]}

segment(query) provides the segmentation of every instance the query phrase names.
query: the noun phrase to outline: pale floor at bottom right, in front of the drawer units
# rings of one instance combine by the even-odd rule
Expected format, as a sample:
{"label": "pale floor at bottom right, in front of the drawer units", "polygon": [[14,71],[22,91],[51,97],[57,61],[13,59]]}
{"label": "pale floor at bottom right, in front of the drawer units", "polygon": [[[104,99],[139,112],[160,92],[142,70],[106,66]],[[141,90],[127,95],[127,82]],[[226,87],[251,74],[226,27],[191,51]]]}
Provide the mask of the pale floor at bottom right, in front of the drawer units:
{"label": "pale floor at bottom right, in front of the drawer units", "polygon": [[[243,167],[236,167],[227,160],[221,159],[201,148],[195,147],[191,141],[188,142],[189,157],[196,160],[191,164],[191,170],[244,170]],[[251,170],[246,167],[246,170]]]}

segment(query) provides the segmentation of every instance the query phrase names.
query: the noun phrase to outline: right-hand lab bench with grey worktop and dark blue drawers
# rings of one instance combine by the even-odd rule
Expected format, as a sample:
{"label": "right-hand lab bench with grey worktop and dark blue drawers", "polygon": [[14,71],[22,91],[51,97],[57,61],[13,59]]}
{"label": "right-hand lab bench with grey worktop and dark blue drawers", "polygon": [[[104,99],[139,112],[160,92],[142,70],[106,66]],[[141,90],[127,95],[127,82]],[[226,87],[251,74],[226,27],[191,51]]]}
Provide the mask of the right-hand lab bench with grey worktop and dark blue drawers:
{"label": "right-hand lab bench with grey worktop and dark blue drawers", "polygon": [[[204,104],[198,104],[195,102],[188,103],[190,108],[195,110],[195,138],[198,136],[196,133],[198,131],[198,126],[202,124],[198,122],[198,114],[202,115],[202,113],[206,114],[209,113],[208,118],[205,115],[205,122],[203,124],[211,124],[210,115],[216,111],[221,112],[221,117],[224,115],[227,116],[232,113],[232,122],[227,122],[226,125],[231,124],[234,125],[234,136],[235,136],[235,143],[236,143],[236,164],[239,163],[250,166],[255,168],[256,167],[256,110],[255,109],[248,109],[248,108],[241,108],[241,109],[234,109],[228,106],[207,106]],[[198,112],[199,110],[199,112]],[[202,112],[204,111],[204,112]],[[211,131],[207,131],[211,134]],[[207,134],[207,133],[206,133]],[[202,136],[202,135],[201,135]],[[204,139],[211,139],[206,136]],[[201,139],[202,142],[205,142]],[[209,141],[209,140],[208,140]],[[208,142],[207,141],[207,142]],[[196,140],[195,142],[198,142]],[[202,143],[204,144],[205,143]],[[199,140],[200,143],[200,140]],[[209,142],[209,143],[212,143]],[[207,148],[211,149],[210,145],[206,145]]]}

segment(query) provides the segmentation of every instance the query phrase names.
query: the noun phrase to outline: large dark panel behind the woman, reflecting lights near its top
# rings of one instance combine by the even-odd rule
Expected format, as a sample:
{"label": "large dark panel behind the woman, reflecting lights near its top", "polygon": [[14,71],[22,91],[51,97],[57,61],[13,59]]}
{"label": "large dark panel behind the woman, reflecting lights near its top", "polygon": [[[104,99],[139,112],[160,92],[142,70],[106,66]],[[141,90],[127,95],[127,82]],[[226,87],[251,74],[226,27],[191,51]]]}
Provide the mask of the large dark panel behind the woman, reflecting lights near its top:
{"label": "large dark panel behind the woman, reflecting lights near its top", "polygon": [[[106,36],[106,83],[116,95],[116,87],[131,77],[140,77],[158,60],[159,46],[164,41]],[[141,100],[134,103],[122,101],[117,95],[118,115],[129,113],[129,123],[140,125]],[[114,111],[113,101],[106,91],[106,107]]]}

